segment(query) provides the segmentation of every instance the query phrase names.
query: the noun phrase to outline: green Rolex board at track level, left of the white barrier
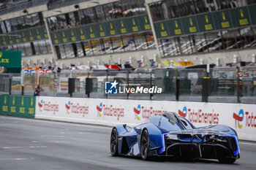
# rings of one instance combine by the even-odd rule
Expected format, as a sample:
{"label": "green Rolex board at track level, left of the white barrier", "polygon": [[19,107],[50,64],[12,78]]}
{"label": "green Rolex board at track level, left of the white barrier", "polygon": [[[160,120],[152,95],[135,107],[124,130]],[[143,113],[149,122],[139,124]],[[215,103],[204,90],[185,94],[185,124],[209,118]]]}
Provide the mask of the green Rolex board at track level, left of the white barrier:
{"label": "green Rolex board at track level, left of the white barrier", "polygon": [[34,118],[34,96],[1,95],[0,99],[0,115]]}

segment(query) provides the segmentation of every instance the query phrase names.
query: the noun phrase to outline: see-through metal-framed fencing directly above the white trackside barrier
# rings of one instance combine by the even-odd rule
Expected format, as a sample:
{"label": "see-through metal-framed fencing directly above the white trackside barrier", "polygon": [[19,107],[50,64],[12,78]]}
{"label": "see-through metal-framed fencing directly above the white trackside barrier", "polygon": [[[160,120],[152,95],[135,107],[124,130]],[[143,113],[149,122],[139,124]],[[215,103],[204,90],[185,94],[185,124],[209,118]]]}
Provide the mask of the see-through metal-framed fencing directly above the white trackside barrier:
{"label": "see-through metal-framed fencing directly above the white trackside barrier", "polygon": [[[75,79],[72,93],[69,78]],[[114,80],[119,93],[105,94],[105,82]],[[256,67],[0,74],[0,93],[33,96],[37,85],[40,96],[256,104]],[[125,90],[136,87],[162,88],[162,93]]]}

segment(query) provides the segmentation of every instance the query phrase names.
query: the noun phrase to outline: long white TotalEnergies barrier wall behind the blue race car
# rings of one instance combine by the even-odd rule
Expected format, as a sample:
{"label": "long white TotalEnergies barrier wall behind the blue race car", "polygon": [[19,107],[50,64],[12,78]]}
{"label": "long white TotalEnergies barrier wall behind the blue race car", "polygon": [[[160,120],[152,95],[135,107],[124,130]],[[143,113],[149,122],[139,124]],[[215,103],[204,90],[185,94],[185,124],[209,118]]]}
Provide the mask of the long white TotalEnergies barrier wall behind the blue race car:
{"label": "long white TotalEnergies barrier wall behind the blue race car", "polygon": [[238,132],[239,139],[256,141],[255,104],[38,96],[35,117],[97,125],[138,125],[146,118],[166,111],[177,112],[196,127],[228,125]]}

